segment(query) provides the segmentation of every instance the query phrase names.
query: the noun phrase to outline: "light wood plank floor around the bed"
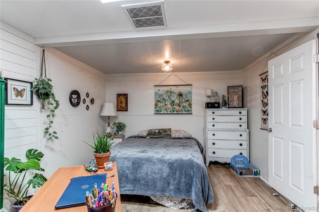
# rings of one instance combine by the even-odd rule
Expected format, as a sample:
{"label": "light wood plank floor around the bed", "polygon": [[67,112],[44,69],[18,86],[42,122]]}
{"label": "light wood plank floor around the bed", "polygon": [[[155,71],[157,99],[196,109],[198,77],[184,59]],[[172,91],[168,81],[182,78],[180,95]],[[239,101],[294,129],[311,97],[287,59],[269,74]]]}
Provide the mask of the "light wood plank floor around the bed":
{"label": "light wood plank floor around the bed", "polygon": [[[288,204],[260,178],[238,177],[230,168],[209,165],[209,181],[214,202],[209,212],[287,212]],[[191,212],[194,208],[169,209],[151,204],[149,197],[121,195],[122,212]]]}

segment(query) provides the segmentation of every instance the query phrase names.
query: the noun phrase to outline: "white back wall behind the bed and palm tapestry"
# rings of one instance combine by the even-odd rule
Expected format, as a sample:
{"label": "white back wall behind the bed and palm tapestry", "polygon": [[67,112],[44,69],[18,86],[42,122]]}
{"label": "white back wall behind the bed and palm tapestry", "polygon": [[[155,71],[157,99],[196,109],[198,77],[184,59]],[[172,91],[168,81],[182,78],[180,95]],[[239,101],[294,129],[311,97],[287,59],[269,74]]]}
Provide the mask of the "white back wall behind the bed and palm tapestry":
{"label": "white back wall behind the bed and palm tapestry", "polygon": [[[192,72],[158,74],[113,74],[107,75],[107,100],[116,103],[116,94],[128,94],[128,111],[118,112],[113,121],[127,124],[126,136],[144,129],[183,129],[196,137],[202,145],[206,89],[227,96],[227,86],[242,85],[241,71]],[[167,78],[167,79],[166,79]],[[183,82],[184,81],[184,82]],[[155,85],[192,85],[192,114],[154,114]]]}

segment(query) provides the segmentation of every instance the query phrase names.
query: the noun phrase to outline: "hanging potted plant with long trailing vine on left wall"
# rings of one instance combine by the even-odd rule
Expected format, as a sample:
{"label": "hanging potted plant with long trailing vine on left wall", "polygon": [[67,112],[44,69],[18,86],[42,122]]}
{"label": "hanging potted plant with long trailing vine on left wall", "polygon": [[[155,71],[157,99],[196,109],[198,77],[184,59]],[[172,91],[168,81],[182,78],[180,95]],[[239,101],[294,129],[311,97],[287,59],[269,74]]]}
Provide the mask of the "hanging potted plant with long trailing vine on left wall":
{"label": "hanging potted plant with long trailing vine on left wall", "polygon": [[44,49],[42,53],[40,77],[35,78],[34,80],[35,84],[31,88],[31,91],[35,92],[36,96],[41,100],[41,109],[44,109],[44,102],[46,101],[49,110],[49,114],[46,115],[46,117],[49,119],[48,126],[44,128],[44,134],[48,136],[49,140],[58,139],[57,132],[53,131],[52,125],[53,118],[55,116],[55,110],[59,107],[60,103],[55,99],[53,86],[50,83],[52,80],[46,77]]}

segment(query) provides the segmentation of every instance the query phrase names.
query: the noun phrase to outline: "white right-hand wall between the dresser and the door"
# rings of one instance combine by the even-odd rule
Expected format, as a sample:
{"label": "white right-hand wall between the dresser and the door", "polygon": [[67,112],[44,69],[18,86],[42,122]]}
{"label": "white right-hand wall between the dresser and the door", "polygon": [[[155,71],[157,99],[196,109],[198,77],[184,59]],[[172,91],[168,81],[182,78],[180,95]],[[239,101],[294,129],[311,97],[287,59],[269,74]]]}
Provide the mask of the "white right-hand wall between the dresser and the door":
{"label": "white right-hand wall between the dresser and the door", "polygon": [[[281,55],[307,41],[316,39],[319,29],[310,33],[298,33],[274,48],[271,52]],[[264,55],[243,70],[244,104],[248,107],[250,162],[260,169],[260,177],[268,181],[268,132],[260,129],[260,77],[268,70],[268,57]],[[269,59],[275,57],[272,55]]]}

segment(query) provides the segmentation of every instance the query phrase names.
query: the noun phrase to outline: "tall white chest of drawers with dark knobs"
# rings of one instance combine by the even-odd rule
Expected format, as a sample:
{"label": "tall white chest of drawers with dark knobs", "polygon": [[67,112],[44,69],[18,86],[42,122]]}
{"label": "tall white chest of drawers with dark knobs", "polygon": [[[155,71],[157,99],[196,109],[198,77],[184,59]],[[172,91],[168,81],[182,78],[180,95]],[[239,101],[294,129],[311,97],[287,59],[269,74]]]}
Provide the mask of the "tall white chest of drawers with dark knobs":
{"label": "tall white chest of drawers with dark knobs", "polygon": [[205,109],[206,166],[210,161],[229,163],[234,155],[249,159],[247,108]]}

